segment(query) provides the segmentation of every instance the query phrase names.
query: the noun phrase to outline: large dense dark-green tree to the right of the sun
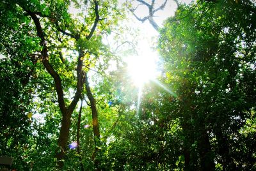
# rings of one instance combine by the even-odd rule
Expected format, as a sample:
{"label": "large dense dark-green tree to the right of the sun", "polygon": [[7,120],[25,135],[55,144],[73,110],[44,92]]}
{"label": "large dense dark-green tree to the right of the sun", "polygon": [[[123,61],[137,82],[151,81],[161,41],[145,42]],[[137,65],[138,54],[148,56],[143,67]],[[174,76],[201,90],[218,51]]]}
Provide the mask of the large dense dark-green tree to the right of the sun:
{"label": "large dense dark-green tree to the right of the sun", "polygon": [[255,167],[247,162],[255,149],[249,143],[250,154],[243,151],[250,136],[241,133],[255,108],[253,11],[250,1],[198,2],[180,6],[161,30],[166,79],[179,96],[186,170]]}

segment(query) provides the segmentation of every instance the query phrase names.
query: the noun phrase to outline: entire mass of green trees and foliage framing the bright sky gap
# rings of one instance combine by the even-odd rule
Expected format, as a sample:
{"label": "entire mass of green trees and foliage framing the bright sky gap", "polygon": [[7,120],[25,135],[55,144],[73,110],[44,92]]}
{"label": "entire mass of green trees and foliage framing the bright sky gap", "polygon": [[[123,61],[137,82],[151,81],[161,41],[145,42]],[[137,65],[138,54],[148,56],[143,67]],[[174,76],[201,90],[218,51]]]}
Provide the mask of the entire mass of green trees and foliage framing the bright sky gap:
{"label": "entire mass of green trees and foliage framing the bright sky gap", "polygon": [[0,156],[18,170],[255,170],[255,4],[179,4],[141,101],[104,43],[124,33],[121,11],[0,2]]}

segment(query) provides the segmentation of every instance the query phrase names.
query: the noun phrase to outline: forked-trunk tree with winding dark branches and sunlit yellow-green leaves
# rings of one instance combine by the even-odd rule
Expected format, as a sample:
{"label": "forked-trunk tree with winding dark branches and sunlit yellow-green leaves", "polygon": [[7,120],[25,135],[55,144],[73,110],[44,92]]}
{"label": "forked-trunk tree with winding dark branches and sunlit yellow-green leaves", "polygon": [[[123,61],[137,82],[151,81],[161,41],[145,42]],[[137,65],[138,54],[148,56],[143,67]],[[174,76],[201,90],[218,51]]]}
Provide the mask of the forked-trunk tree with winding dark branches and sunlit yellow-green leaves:
{"label": "forked-trunk tree with winding dark branches and sunlit yellow-green leaves", "polygon": [[[72,17],[73,14],[68,11],[70,6],[81,9],[81,12],[76,14],[77,18]],[[99,9],[99,6],[102,8]],[[109,33],[110,25],[115,24],[115,17],[117,17],[115,11],[108,13],[108,10],[115,9],[115,6],[115,2],[107,1],[84,1],[83,3],[77,3],[77,1],[3,1],[1,3],[4,11],[2,13],[8,13],[8,15],[1,16],[1,19],[10,20],[16,17],[15,15],[22,19],[18,17],[13,19],[15,24],[13,26],[16,27],[10,23],[4,23],[5,27],[8,26],[11,29],[6,36],[10,36],[14,42],[17,42],[11,34],[15,33],[19,26],[28,27],[30,31],[21,33],[28,38],[34,38],[33,45],[37,44],[37,47],[25,45],[17,49],[20,52],[24,50],[23,48],[33,50],[29,54],[35,57],[38,63],[44,65],[47,75],[51,75],[49,82],[45,84],[49,84],[49,87],[54,86],[56,93],[52,95],[56,97],[54,99],[57,100],[62,115],[58,138],[60,149],[56,151],[60,167],[63,167],[63,159],[67,152],[70,119],[77,102],[84,93],[88,96],[92,108],[95,142],[99,141],[97,140],[100,137],[99,121],[95,99],[88,82],[88,71],[104,54],[105,48],[101,40],[103,34]],[[4,33],[3,29],[1,33]],[[6,41],[3,41],[4,48],[1,51],[10,55],[6,48],[12,48],[12,45]],[[29,39],[25,42],[27,41]],[[28,60],[33,61],[32,59]],[[83,89],[84,85],[85,89]],[[68,91],[74,91],[74,97],[67,96]]]}

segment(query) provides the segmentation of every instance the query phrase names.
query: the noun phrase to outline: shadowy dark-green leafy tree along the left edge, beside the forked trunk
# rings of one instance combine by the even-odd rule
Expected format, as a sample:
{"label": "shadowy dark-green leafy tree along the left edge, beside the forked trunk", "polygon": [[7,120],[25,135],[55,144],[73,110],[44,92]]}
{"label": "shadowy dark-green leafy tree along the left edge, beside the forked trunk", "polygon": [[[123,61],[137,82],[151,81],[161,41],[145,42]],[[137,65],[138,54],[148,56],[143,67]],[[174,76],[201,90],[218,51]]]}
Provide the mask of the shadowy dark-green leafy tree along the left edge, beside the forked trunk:
{"label": "shadowy dark-green leafy tree along the left edge, beside the forked trunk", "polygon": [[31,93],[35,88],[29,79],[37,63],[32,54],[39,50],[38,41],[23,34],[29,31],[28,26],[17,24],[18,20],[26,22],[25,17],[3,3],[0,8],[0,155],[12,156],[14,164],[19,165],[17,168],[26,170],[28,166],[22,156],[31,135]]}

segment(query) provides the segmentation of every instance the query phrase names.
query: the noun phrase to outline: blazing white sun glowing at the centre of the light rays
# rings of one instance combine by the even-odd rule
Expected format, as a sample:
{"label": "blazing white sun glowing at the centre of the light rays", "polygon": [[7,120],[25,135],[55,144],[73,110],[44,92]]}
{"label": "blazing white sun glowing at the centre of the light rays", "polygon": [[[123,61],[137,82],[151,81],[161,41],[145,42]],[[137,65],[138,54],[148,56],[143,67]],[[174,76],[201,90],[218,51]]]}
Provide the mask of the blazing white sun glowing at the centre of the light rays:
{"label": "blazing white sun glowing at the centre of the light rays", "polygon": [[157,56],[147,53],[127,59],[127,72],[136,87],[141,87],[157,77]]}

